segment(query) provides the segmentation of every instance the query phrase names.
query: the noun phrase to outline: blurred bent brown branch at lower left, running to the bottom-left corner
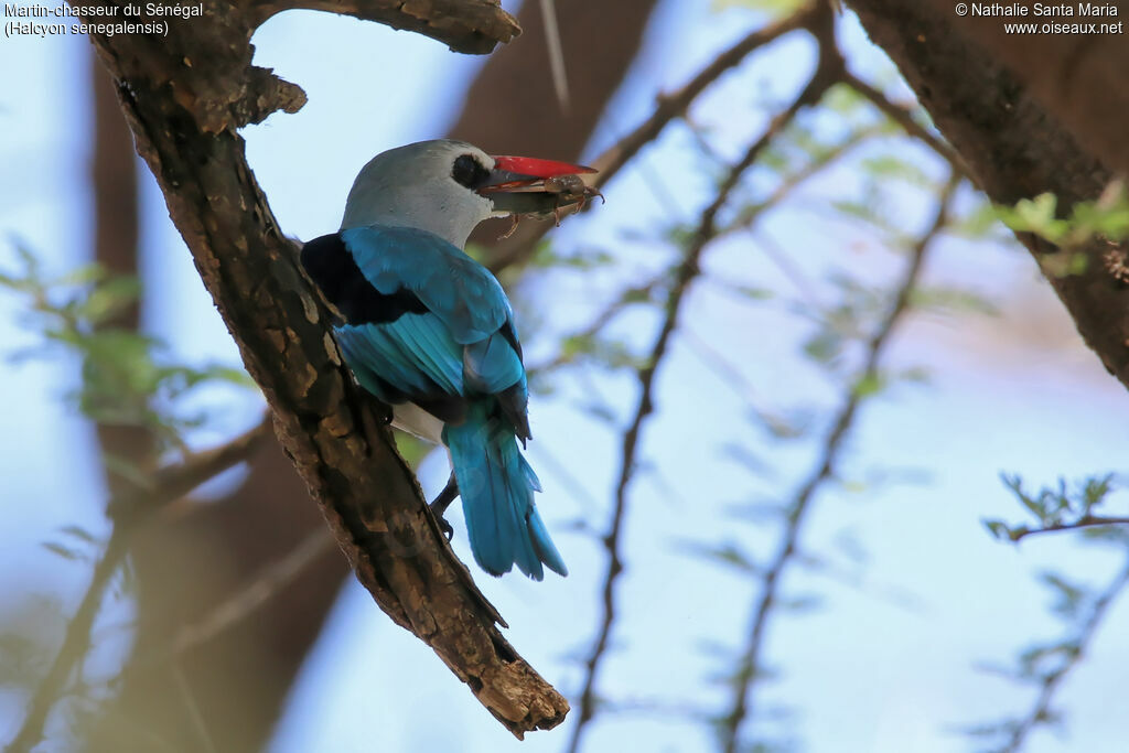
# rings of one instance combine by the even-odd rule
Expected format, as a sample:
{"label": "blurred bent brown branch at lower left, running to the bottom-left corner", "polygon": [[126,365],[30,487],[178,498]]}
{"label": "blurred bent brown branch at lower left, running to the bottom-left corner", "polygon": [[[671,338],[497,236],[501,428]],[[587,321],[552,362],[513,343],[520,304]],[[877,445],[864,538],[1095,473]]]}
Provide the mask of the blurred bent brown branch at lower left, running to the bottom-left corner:
{"label": "blurred bent brown branch at lower left, running to the bottom-left corner", "polygon": [[32,695],[24,724],[6,748],[7,753],[26,753],[43,739],[43,727],[47,715],[62,694],[75,665],[86,654],[90,642],[90,628],[98,615],[106,587],[129,553],[134,532],[150,518],[152,513],[180,499],[204,481],[247,459],[257,447],[259,440],[266,436],[269,427],[270,421],[264,419],[255,428],[220,447],[163,467],[154,475],[149,488],[133,489],[111,504],[113,509],[120,510],[114,518],[114,531],[110,535],[102,558],[95,564],[90,585],[75,616],[67,625],[59,654]]}

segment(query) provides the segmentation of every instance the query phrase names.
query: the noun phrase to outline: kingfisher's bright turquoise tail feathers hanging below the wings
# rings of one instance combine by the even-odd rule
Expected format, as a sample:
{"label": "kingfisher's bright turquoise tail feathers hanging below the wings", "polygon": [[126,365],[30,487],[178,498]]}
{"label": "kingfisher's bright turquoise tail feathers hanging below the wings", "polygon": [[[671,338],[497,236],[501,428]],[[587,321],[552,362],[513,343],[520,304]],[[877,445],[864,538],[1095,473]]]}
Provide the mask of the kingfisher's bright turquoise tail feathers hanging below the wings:
{"label": "kingfisher's bright turquoise tail feathers hanging below the wings", "polygon": [[522,456],[513,427],[491,418],[491,408],[487,401],[472,404],[463,423],[447,424],[443,432],[474,559],[495,576],[517,564],[522,572],[541,580],[542,563],[566,576],[568,568],[533,504],[533,492],[541,491],[541,482]]}

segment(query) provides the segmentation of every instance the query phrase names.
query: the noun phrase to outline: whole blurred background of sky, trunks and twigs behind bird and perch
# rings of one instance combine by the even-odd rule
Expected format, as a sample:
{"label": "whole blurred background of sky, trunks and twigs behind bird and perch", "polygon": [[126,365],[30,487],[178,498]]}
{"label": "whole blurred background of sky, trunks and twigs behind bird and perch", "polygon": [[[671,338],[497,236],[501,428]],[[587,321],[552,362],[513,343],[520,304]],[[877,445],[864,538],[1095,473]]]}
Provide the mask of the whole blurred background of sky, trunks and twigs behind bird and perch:
{"label": "whole blurred background of sky, trunks and twigs behind bird and perch", "polygon": [[[605,5],[555,3],[567,106],[553,3],[524,3],[485,62],[330,15],[270,21],[256,61],[310,94],[245,132],[286,230],[335,227],[371,154],[445,132],[603,164],[660,95],[808,12]],[[1119,751],[1129,410],[1008,228],[1123,238],[1124,193],[989,205],[852,17],[804,19],[707,77],[604,176],[606,204],[471,249],[519,313],[539,505],[572,569],[475,573],[572,702],[523,745]],[[347,577],[84,45],[0,47],[41,77],[0,99],[0,735],[516,746]],[[443,453],[400,447],[434,493]]]}

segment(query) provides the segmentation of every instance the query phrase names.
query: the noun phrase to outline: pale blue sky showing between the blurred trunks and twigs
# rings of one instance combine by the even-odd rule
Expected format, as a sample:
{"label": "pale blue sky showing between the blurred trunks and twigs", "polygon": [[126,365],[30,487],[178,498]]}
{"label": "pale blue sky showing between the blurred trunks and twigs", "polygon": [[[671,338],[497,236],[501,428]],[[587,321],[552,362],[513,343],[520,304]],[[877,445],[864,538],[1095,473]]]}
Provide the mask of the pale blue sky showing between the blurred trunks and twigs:
{"label": "pale blue sky showing between the blurred trunks and twigs", "polygon": [[[589,155],[645,117],[655,94],[684,81],[756,21],[739,9],[715,12],[704,2],[667,3],[648,33],[631,89],[610,108]],[[680,54],[663,54],[675,41]],[[478,64],[429,40],[327,14],[285,14],[269,21],[254,43],[259,64],[274,67],[309,95],[298,114],[273,115],[245,132],[248,158],[275,214],[299,238],[336,227],[356,170],[374,154],[441,135]],[[850,20],[844,21],[843,43],[855,70],[884,70],[882,55]],[[0,235],[18,235],[56,270],[90,253],[89,196],[82,182],[89,134],[86,125],[77,125],[88,119],[89,62],[80,38],[0,43],[0,70],[23,72],[0,93],[0,132],[6,135],[0,142]],[[711,128],[723,151],[733,154],[765,119],[754,107],[754,93],[785,99],[809,65],[809,47],[787,40],[724,80],[693,117]],[[387,70],[405,73],[380,75]],[[734,103],[747,107],[738,112]],[[518,308],[530,321],[550,318],[550,313],[552,321],[539,329],[531,352],[550,352],[552,335],[586,322],[618,283],[638,281],[671,261],[671,249],[646,239],[671,213],[651,184],[657,173],[673,187],[674,211],[693,219],[708,199],[709,181],[694,173],[689,142],[685,129],[669,129],[612,183],[606,205],[570,219],[557,234],[562,251],[599,245],[614,251],[620,263],[598,274],[551,272],[524,280],[515,291]],[[940,174],[940,166],[919,150],[910,156],[930,175]],[[237,352],[151,178],[145,185],[145,280],[149,300],[159,301],[146,310],[148,326],[189,360],[236,362]],[[831,269],[887,281],[903,262],[872,235],[813,210],[820,200],[850,194],[857,185],[849,167],[834,170],[806,186],[764,228],[816,281],[821,295],[832,295],[820,282]],[[962,201],[968,205],[972,199]],[[912,191],[904,192],[894,210],[918,227],[928,213]],[[710,252],[707,280],[689,301],[689,330],[738,368],[759,402],[832,405],[833,386],[796,357],[809,327],[789,313],[797,294],[764,263],[759,253],[763,243],[760,235],[734,238]],[[0,246],[0,265],[9,259],[8,248]],[[779,289],[780,298],[756,307],[737,304],[710,282],[730,278]],[[949,732],[953,726],[1022,711],[1031,699],[1030,691],[979,673],[973,664],[1005,662],[1032,638],[1057,630],[1032,573],[1056,567],[1096,584],[1118,567],[1117,558],[1084,550],[1067,536],[1031,540],[1021,549],[998,544],[984,534],[980,519],[1019,517],[998,480],[1000,471],[1022,473],[1040,485],[1060,474],[1122,470],[1129,419],[1124,389],[1085,350],[1019,251],[948,237],[930,260],[927,280],[969,286],[990,297],[1001,315],[911,317],[895,335],[887,366],[925,366],[930,383],[898,386],[866,405],[843,473],[858,479],[870,469],[907,467],[919,470],[924,480],[864,492],[832,485],[816,500],[803,546],[839,563],[854,583],[799,570],[787,577],[789,592],[819,593],[825,602],[821,610],[772,623],[769,658],[781,677],[759,691],[765,703],[784,702],[795,710],[765,728],[799,737],[813,751],[973,750]],[[18,326],[16,310],[15,301],[0,295],[0,348],[6,352],[35,341]],[[629,342],[642,345],[655,322],[653,314],[632,312],[615,326]],[[88,573],[38,543],[70,523],[105,531],[93,435],[59,401],[75,384],[73,367],[60,361],[0,367],[5,393],[16,396],[0,412],[0,478],[9,500],[0,531],[0,593],[9,604],[28,589],[46,589],[72,611]],[[622,424],[634,405],[636,386],[625,375],[601,371],[566,371],[555,385],[552,396],[534,402],[537,440],[530,458],[546,488],[539,506],[550,527],[560,531],[554,539],[571,575],[543,584],[483,576],[481,585],[513,625],[508,636],[523,655],[562,691],[574,693],[581,680],[575,659],[594,633],[595,593],[605,562],[594,541],[568,528],[578,518],[604,528],[619,453],[615,427],[584,406],[598,394]],[[641,473],[631,494],[624,534],[628,570],[620,592],[623,619],[601,682],[602,692],[612,698],[692,703],[712,711],[728,702],[724,688],[708,682],[720,660],[700,647],[707,640],[741,645],[755,588],[689,557],[686,543],[733,540],[755,559],[765,559],[774,549],[771,531],[736,523],[725,513],[754,497],[786,498],[814,462],[815,450],[812,443],[768,441],[743,419],[746,400],[703,365],[690,338],[675,340],[659,374],[659,412],[642,447],[655,471]],[[255,410],[245,401],[194,441],[222,438],[254,420]],[[733,441],[747,444],[772,473],[751,474],[727,459],[723,450]],[[561,467],[584,493],[555,470]],[[422,475],[434,490],[446,467],[432,459]],[[453,522],[461,531],[457,513]],[[850,558],[843,542],[851,540],[865,550],[865,566]],[[469,554],[464,536],[456,534],[455,549]],[[1129,720],[1119,709],[1129,647],[1119,636],[1127,628],[1129,606],[1122,602],[1089,660],[1064,688],[1070,737],[1036,734],[1026,750],[1122,748]],[[14,728],[18,713],[18,699],[0,693],[0,737]],[[533,734],[522,750],[561,750],[568,734],[567,728]],[[700,724],[656,712],[601,718],[587,739],[589,751],[697,751],[710,745]],[[517,750],[517,743],[430,649],[393,625],[350,583],[294,690],[271,751],[377,750],[495,751]]]}

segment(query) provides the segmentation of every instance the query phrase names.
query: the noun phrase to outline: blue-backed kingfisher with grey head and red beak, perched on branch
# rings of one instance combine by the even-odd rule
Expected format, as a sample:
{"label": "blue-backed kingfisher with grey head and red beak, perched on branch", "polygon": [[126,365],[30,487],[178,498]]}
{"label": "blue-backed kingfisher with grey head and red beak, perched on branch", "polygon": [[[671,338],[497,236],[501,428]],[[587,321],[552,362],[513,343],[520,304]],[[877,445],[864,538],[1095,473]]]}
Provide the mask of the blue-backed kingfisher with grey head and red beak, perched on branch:
{"label": "blue-backed kingfisher with grey head and red beak, perched on branch", "polygon": [[[449,454],[452,479],[431,504],[444,531],[455,496],[479,566],[566,576],[533,494],[541,482],[522,448],[532,438],[528,385],[514,312],[498,280],[465,252],[489,217],[577,211],[592,168],[490,156],[453,140],[374,157],[357,175],[341,229],[301,249],[301,264],[340,312],[333,332],[394,427]],[[518,447],[520,441],[522,447]]]}

